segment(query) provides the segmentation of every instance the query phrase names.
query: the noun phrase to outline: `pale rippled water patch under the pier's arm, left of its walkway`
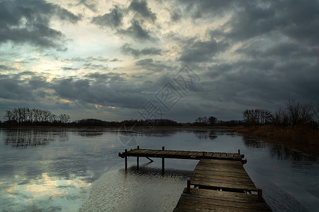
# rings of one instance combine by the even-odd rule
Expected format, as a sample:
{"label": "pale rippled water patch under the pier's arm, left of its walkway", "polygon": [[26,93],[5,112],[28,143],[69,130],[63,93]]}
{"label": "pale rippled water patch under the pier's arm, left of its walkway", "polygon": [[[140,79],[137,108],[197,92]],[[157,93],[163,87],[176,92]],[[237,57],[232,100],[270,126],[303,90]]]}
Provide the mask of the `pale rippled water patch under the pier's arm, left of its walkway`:
{"label": "pale rippled water patch under the pier's arm, left of its walkway", "polygon": [[150,167],[106,172],[79,211],[173,211],[191,171],[165,172]]}

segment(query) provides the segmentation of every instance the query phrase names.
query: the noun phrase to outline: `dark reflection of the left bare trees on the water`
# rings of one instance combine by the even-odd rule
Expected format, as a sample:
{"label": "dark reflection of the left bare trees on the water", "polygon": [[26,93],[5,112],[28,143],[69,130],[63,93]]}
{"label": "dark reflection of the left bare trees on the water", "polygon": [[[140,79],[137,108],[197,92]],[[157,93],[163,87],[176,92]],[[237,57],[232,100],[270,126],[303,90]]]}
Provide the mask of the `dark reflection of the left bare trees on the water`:
{"label": "dark reflection of the left bare trees on the water", "polygon": [[16,129],[4,131],[4,143],[15,148],[28,148],[28,146],[44,146],[59,139],[67,141],[69,136],[66,130],[49,131],[33,129]]}

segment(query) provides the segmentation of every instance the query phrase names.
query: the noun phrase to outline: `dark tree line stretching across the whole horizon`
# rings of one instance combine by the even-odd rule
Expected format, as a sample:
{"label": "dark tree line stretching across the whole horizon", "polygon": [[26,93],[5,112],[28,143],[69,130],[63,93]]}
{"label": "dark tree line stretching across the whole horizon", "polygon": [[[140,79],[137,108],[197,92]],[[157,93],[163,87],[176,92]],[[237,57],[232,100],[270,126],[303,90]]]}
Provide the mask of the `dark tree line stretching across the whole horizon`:
{"label": "dark tree line stretching across the whole horizon", "polygon": [[50,110],[18,107],[6,110],[2,126],[318,126],[319,104],[301,104],[289,100],[285,108],[272,113],[265,109],[250,109],[242,113],[243,120],[222,121],[216,117],[197,117],[193,123],[179,123],[170,119],[130,119],[121,122],[106,122],[101,119],[80,119],[70,122],[68,114],[56,115]]}

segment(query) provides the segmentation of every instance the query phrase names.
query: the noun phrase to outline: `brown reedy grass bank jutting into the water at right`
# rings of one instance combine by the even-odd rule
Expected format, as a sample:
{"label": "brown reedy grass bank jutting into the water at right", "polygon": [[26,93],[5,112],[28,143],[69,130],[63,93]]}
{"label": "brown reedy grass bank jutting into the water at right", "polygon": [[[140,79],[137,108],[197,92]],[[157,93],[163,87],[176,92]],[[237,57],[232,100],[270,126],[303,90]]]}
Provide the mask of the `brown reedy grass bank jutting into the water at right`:
{"label": "brown reedy grass bank jutting into the water at right", "polygon": [[284,144],[304,153],[319,156],[319,129],[306,126],[277,127],[267,126],[237,126],[229,129],[242,136],[259,139],[268,143]]}

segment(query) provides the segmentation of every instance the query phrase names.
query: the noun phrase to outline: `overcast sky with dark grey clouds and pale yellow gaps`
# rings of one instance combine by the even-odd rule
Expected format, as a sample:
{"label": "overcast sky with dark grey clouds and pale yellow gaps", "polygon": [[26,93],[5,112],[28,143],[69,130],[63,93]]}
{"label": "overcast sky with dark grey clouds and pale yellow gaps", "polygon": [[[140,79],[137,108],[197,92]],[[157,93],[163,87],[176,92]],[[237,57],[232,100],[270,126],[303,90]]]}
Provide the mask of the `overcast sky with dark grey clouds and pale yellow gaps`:
{"label": "overcast sky with dark grey clouds and pale yellow gaps", "polygon": [[319,1],[0,0],[0,120],[242,119],[319,102]]}

